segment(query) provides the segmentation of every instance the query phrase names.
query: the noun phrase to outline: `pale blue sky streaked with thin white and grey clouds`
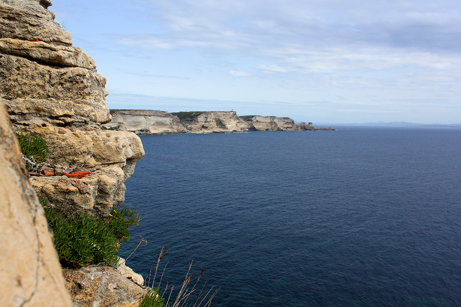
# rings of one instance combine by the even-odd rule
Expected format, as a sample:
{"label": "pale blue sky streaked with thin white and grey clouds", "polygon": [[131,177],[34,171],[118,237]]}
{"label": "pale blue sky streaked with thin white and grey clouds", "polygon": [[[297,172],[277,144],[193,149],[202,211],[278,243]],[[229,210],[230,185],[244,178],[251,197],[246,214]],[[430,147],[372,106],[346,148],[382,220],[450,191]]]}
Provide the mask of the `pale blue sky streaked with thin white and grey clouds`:
{"label": "pale blue sky streaked with thin white and grey clouds", "polygon": [[109,108],[461,123],[459,0],[54,0]]}

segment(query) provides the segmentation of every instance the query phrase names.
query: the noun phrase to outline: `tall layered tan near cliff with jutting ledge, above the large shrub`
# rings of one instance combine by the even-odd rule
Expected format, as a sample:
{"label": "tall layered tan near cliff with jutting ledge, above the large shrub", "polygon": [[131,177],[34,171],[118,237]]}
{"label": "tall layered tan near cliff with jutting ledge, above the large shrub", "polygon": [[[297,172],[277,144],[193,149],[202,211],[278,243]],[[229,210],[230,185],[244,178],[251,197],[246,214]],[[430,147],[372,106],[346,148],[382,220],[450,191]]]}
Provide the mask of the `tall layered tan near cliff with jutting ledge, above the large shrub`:
{"label": "tall layered tan near cliff with jutting ledge, above the large shrub", "polygon": [[106,78],[97,74],[91,57],[72,46],[49,5],[0,0],[2,94],[16,131],[46,141],[50,165],[91,172],[84,179],[32,177],[38,196],[61,210],[105,216],[123,202],[124,182],[144,151],[135,134],[100,129],[111,120]]}

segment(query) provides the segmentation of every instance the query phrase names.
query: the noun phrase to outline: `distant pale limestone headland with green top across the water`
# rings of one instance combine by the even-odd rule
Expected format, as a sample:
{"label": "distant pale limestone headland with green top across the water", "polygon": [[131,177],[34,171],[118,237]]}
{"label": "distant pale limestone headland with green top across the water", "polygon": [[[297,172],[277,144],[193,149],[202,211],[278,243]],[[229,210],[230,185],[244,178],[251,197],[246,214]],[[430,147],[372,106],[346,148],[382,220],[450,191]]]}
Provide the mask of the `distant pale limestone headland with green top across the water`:
{"label": "distant pale limestone headland with green top across the water", "polygon": [[112,120],[103,124],[110,130],[143,134],[228,133],[244,131],[334,130],[316,128],[312,123],[296,124],[289,117],[246,115],[235,111],[177,112],[111,109]]}

